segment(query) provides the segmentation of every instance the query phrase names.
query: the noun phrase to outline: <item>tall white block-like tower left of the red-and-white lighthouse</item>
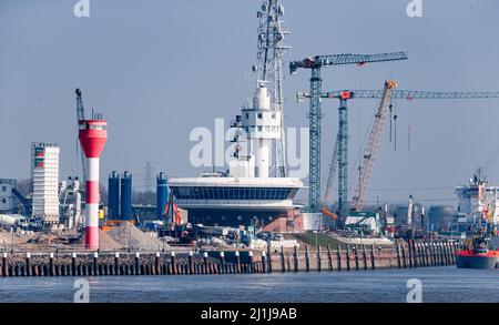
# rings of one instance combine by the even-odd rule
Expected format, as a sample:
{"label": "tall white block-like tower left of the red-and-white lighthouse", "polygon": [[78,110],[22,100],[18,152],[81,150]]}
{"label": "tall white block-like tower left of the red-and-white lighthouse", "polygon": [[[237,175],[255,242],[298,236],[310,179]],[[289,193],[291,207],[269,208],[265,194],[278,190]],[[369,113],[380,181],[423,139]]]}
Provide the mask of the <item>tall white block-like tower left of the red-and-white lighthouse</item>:
{"label": "tall white block-like tower left of the red-and-white lighthouse", "polygon": [[31,181],[33,215],[45,224],[59,223],[59,153],[57,144],[31,144]]}

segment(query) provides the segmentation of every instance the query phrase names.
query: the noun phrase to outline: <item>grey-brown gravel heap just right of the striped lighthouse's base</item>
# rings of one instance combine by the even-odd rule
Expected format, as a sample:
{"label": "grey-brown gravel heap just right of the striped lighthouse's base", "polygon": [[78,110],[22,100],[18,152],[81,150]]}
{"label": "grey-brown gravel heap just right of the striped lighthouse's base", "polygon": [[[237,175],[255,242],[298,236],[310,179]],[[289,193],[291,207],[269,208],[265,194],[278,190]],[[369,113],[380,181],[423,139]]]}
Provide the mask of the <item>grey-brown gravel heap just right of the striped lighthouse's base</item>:
{"label": "grey-brown gravel heap just right of the striped lighthouse's base", "polygon": [[108,235],[124,248],[131,250],[162,250],[163,243],[153,236],[145,234],[131,223],[113,226]]}

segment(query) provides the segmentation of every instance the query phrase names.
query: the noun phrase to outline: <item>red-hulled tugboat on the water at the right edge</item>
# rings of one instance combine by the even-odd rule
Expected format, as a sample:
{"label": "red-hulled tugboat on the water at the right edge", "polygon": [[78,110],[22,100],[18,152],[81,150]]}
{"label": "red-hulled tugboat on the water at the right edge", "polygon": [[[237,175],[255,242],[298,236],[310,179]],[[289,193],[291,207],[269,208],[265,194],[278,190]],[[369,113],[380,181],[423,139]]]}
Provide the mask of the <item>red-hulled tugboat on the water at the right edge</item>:
{"label": "red-hulled tugboat on the water at the right edge", "polygon": [[499,270],[499,237],[479,232],[466,248],[457,253],[458,268],[497,268]]}

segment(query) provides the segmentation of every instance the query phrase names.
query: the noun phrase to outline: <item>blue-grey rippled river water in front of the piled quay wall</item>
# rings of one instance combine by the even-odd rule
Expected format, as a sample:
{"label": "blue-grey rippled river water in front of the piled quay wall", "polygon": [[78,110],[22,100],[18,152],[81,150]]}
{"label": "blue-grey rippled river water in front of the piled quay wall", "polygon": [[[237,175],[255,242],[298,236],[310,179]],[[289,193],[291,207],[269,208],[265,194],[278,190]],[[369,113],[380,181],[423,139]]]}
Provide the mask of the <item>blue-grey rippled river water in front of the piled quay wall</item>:
{"label": "blue-grey rippled river water in front of the piled quay wall", "polygon": [[[78,277],[0,278],[0,303],[73,302]],[[406,302],[407,281],[422,302],[499,303],[499,271],[428,267],[298,274],[86,277],[90,302]]]}

